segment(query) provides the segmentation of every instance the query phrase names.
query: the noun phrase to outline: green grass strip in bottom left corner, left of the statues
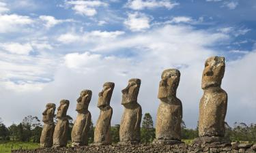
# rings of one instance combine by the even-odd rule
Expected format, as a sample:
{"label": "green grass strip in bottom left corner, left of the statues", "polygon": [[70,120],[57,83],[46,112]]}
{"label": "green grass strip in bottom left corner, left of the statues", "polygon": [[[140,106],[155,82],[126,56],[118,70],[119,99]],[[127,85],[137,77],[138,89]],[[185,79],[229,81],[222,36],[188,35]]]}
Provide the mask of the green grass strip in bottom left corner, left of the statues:
{"label": "green grass strip in bottom left corner, left of the statues", "polygon": [[11,150],[39,148],[39,143],[32,142],[0,142],[0,153],[10,153]]}

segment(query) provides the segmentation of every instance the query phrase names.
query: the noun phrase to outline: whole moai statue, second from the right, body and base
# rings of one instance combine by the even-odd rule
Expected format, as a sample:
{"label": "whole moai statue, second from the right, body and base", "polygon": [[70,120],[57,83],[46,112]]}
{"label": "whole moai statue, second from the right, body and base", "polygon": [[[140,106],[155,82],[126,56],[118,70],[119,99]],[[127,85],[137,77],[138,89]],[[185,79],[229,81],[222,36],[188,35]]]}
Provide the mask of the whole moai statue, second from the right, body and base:
{"label": "whole moai statue, second from the right, body and base", "polygon": [[176,144],[181,141],[182,102],[176,97],[180,82],[180,71],[166,69],[162,72],[158,99],[160,105],[156,118],[156,139],[154,144]]}

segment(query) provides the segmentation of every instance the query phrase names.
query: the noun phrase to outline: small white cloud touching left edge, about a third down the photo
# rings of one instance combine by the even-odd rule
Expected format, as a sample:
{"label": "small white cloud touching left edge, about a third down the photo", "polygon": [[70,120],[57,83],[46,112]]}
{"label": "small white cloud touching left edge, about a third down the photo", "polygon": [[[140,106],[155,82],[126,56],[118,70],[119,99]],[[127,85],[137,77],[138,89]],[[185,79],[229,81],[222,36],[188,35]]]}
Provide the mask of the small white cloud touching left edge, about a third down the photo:
{"label": "small white cloud touching left edge, about a third down the photo", "polygon": [[20,44],[20,43],[4,43],[0,44],[0,48],[14,54],[28,55],[33,50],[31,44]]}

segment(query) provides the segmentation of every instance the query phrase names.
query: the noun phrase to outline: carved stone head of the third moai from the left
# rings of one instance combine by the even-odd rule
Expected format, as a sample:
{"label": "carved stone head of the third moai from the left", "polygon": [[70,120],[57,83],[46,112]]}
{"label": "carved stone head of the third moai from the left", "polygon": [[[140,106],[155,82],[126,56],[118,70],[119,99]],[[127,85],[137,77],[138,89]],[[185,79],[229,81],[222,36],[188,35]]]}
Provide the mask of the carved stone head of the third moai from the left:
{"label": "carved stone head of the third moai from the left", "polygon": [[76,111],[83,112],[88,109],[89,103],[91,101],[91,90],[83,90],[80,94],[79,99],[77,99]]}

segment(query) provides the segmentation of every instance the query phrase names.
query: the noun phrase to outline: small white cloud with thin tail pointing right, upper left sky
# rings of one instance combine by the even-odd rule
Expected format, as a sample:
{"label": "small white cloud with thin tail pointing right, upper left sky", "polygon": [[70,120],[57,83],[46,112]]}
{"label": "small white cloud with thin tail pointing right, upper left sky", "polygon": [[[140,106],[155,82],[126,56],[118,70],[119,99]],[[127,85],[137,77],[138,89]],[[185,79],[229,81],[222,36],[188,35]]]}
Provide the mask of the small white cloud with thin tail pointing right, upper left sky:
{"label": "small white cloud with thin tail pointing right, upper left sky", "polygon": [[72,22],[73,20],[67,19],[67,20],[57,20],[54,16],[39,16],[40,20],[42,20],[44,23],[44,26],[46,28],[54,27],[56,24],[61,24],[63,22]]}

